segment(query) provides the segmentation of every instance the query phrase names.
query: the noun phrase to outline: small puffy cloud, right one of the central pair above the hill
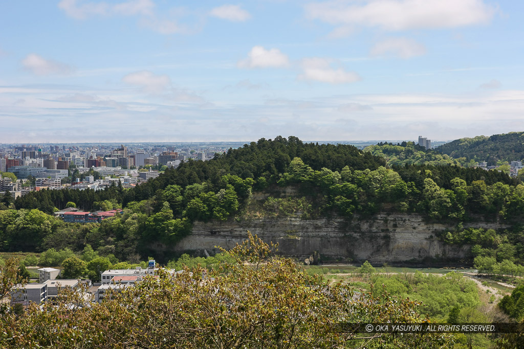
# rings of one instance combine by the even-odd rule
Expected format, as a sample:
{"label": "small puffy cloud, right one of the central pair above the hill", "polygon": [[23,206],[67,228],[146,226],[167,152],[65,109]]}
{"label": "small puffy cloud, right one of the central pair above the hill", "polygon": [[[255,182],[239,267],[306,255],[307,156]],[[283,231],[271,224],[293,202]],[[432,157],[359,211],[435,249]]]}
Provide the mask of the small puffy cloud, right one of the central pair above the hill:
{"label": "small puffy cloud, right one of the central pair above the hill", "polygon": [[352,83],[362,78],[355,72],[346,72],[342,68],[331,67],[331,60],[325,58],[304,58],[302,60],[303,73],[300,80],[313,80],[331,84]]}

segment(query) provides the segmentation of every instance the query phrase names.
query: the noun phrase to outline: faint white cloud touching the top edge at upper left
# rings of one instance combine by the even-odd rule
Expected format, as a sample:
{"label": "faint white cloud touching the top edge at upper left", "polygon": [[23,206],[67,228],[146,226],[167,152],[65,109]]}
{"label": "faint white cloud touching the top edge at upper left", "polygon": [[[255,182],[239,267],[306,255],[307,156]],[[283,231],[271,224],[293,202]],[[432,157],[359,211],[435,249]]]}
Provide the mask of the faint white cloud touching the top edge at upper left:
{"label": "faint white cloud touching the top edge at upper left", "polygon": [[78,0],[62,0],[58,7],[68,16],[76,19],[86,19],[91,16],[151,16],[155,4],[151,0],[129,0],[118,4],[106,2],[87,2],[79,4]]}

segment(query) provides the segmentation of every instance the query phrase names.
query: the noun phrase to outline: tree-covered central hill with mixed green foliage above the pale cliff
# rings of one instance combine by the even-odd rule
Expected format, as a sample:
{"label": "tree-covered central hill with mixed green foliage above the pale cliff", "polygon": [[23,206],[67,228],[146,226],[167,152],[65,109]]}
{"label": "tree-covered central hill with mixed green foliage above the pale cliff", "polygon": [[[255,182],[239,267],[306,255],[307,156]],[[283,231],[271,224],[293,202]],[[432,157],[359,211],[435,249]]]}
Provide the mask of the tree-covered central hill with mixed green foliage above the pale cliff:
{"label": "tree-covered central hill with mixed green foliage above the pale cliff", "polygon": [[[138,263],[153,253],[167,262],[173,256],[161,255],[155,244],[176,244],[191,233],[194,221],[242,219],[253,192],[269,195],[260,209],[268,217],[301,212],[303,218],[351,219],[354,213],[372,217],[387,210],[417,212],[457,226],[478,215],[509,222],[524,218],[524,185],[505,173],[455,165],[385,165],[381,157],[351,145],[303,143],[296,137],[260,139],[210,161],[184,162],[133,189],[40,190],[17,198],[0,210],[0,252],[80,253],[90,245],[99,256],[113,258],[113,264]],[[278,187],[293,187],[296,195],[271,196]],[[84,225],[49,215],[68,202],[84,210],[104,205],[124,211]],[[482,255],[497,254],[500,244],[517,244],[520,231],[497,232],[494,241],[480,242]],[[469,241],[453,238],[460,229],[450,233],[451,239],[442,239]],[[524,249],[517,247],[511,258],[524,258]]]}

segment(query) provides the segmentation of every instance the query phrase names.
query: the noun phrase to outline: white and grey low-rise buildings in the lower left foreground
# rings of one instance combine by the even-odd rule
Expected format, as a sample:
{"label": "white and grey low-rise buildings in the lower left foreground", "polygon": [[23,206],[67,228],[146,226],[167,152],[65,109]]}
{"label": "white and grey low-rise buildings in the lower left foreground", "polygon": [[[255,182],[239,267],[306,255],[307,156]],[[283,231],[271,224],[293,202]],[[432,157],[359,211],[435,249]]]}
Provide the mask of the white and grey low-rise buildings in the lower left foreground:
{"label": "white and grey low-rise buildings in the lower left foreground", "polygon": [[[61,279],[60,269],[56,268],[40,268],[39,282],[27,283],[25,285],[17,285],[10,292],[11,303],[21,303],[27,306],[29,302],[34,302],[37,305],[47,301],[53,300],[58,296],[60,289],[69,287],[73,290],[79,291],[82,285],[86,292],[84,295],[85,304],[90,302],[102,302],[108,297],[108,291],[121,291],[126,287],[133,287],[142,282],[146,277],[158,278],[158,266],[154,260],[149,261],[148,267],[143,269],[136,267],[134,269],[110,269],[101,272],[101,282],[91,283],[89,279]],[[176,272],[174,269],[163,269],[170,275],[183,273],[184,271]]]}

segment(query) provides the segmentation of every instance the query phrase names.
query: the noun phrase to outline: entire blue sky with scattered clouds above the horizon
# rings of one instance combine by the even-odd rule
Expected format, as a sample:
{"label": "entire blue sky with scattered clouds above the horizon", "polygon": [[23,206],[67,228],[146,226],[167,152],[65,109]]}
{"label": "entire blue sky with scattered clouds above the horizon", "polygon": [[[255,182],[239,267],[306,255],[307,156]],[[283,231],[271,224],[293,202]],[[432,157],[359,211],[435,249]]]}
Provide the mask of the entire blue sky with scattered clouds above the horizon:
{"label": "entire blue sky with scattered clouds above the horizon", "polygon": [[520,0],[0,2],[0,143],[524,131]]}

